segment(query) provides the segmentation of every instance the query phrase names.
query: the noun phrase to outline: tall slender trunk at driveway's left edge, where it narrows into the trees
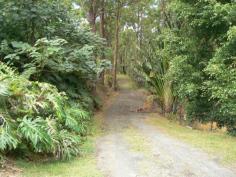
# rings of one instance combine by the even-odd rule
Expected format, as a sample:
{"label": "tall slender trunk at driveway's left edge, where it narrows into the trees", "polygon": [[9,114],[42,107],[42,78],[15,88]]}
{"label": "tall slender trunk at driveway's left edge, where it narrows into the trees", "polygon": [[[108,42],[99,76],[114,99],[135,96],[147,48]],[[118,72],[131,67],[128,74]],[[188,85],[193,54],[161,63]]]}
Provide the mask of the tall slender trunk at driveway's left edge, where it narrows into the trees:
{"label": "tall slender trunk at driveway's left edge, where it narrows into the trees", "polygon": [[119,55],[119,31],[120,31],[120,2],[117,2],[116,9],[116,32],[115,32],[115,49],[114,49],[114,60],[113,60],[113,81],[112,88],[117,90],[117,60]]}

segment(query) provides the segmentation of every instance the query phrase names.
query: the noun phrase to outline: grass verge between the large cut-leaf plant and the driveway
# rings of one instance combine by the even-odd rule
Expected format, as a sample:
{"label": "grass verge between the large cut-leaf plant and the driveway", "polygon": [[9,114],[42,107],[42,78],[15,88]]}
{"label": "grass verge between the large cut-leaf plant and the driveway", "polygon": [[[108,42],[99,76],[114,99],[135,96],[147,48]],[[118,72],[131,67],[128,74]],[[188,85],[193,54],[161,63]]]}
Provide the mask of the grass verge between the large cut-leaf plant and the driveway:
{"label": "grass verge between the large cut-leaf plant and the driveway", "polygon": [[22,169],[22,177],[103,177],[97,168],[95,158],[95,139],[101,131],[101,115],[91,126],[91,135],[81,146],[81,157],[68,161],[26,162],[18,160],[16,165]]}

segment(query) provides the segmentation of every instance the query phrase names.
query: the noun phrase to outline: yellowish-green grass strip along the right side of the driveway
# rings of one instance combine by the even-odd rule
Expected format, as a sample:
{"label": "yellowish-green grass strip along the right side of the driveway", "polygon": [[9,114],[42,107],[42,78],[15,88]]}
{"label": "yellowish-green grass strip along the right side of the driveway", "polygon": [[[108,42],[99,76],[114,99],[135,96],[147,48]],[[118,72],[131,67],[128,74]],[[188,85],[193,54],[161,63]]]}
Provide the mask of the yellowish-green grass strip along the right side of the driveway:
{"label": "yellowish-green grass strip along the right side of the driveway", "polygon": [[175,121],[152,115],[146,122],[157,126],[158,129],[170,136],[201,148],[212,155],[219,157],[224,164],[236,165],[236,138],[223,132],[192,130],[179,125]]}

